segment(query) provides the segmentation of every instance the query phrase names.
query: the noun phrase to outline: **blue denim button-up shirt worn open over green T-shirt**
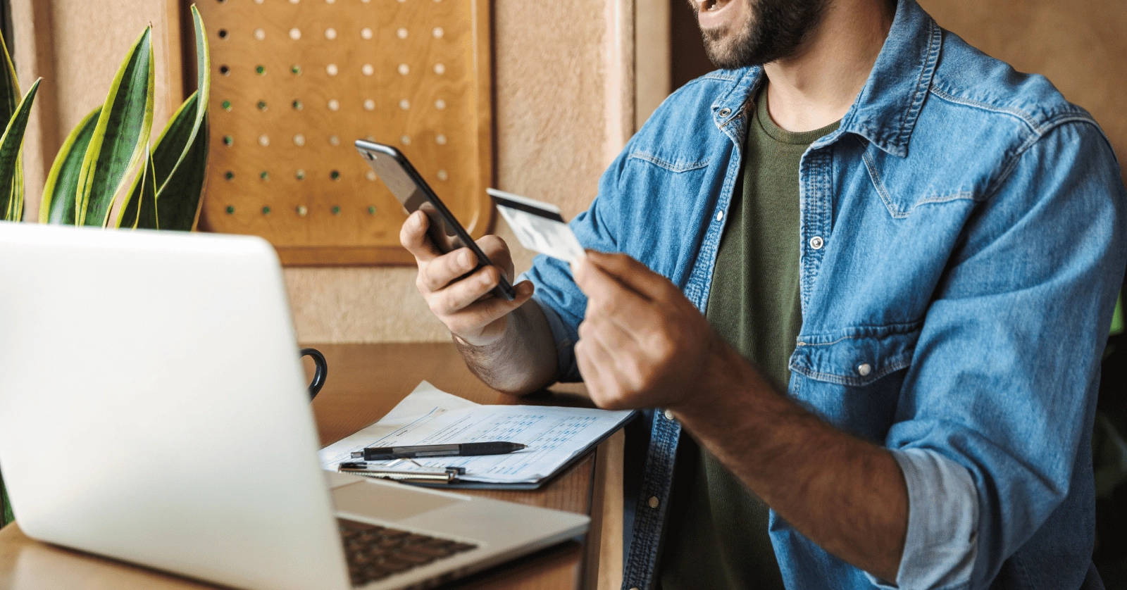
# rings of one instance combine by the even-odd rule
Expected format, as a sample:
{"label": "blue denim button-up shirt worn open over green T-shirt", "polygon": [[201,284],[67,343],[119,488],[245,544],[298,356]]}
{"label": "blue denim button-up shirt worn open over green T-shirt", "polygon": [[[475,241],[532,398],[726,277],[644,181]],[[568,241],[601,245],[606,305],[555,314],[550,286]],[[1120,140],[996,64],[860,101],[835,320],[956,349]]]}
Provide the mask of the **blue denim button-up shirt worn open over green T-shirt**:
{"label": "blue denim button-up shirt worn open over green T-shirt", "polygon": [[[762,81],[758,68],[719,71],[671,96],[571,222],[579,241],[637,258],[703,311]],[[899,2],[841,126],[801,159],[802,327],[787,394],[893,452],[909,500],[904,556],[881,581],[772,512],[789,588],[1101,587],[1090,439],[1127,263],[1124,207],[1088,113]],[[525,276],[559,377],[578,379],[586,300],[553,259]],[[623,588],[654,581],[681,435],[648,415]]]}

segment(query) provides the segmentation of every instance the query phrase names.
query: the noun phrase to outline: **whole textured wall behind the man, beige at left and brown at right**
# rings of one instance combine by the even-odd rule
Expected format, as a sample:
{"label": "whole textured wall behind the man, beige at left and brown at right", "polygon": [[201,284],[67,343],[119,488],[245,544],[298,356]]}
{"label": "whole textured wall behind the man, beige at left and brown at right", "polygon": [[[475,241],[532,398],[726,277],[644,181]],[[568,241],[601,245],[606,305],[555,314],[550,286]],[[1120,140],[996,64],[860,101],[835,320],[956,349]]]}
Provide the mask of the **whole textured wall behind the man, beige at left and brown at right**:
{"label": "whole textured wall behind the man, beige at left and brown at right", "polygon": [[[214,0],[202,0],[214,1]],[[242,0],[234,0],[242,1]],[[247,0],[249,1],[249,0]],[[274,1],[274,0],[266,0]],[[494,0],[498,188],[557,203],[570,218],[604,167],[667,89],[708,70],[685,0]],[[97,106],[130,44],[152,23],[157,124],[183,96],[172,0],[11,0],[17,69],[41,87],[26,150],[27,215],[43,171]],[[1127,154],[1127,2],[922,0],[944,27],[1019,70],[1046,74],[1093,113]],[[669,34],[664,33],[665,29]],[[668,70],[664,68],[668,64]],[[531,252],[499,223],[526,268]],[[442,341],[449,336],[414,286],[410,267],[285,271],[307,342]]]}

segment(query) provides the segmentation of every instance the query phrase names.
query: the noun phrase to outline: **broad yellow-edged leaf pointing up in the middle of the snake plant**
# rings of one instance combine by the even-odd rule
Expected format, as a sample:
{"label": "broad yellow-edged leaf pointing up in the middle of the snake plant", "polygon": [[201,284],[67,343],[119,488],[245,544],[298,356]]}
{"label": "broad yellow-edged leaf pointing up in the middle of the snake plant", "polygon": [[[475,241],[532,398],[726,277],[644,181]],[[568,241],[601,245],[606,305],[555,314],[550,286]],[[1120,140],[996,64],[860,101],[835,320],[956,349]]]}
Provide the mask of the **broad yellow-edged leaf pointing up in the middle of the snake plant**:
{"label": "broad yellow-edged leaf pointing up in the middle of the snake plant", "polygon": [[133,44],[109,87],[78,181],[78,225],[105,226],[114,199],[143,164],[152,132],[152,27]]}

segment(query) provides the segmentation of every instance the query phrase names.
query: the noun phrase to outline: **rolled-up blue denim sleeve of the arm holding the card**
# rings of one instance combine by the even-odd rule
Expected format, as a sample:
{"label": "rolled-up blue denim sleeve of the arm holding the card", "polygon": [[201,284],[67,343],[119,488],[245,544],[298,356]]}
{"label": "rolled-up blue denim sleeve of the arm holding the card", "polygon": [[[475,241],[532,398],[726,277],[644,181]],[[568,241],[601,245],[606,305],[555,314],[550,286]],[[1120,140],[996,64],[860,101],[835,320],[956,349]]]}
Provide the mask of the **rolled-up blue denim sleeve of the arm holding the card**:
{"label": "rolled-up blue denim sleeve of the arm holding the card", "polygon": [[964,229],[905,375],[886,439],[909,497],[902,589],[985,589],[1068,518],[1066,500],[1090,508],[1070,494],[1093,493],[1077,474],[1127,263],[1125,194],[1094,124],[1040,133]]}

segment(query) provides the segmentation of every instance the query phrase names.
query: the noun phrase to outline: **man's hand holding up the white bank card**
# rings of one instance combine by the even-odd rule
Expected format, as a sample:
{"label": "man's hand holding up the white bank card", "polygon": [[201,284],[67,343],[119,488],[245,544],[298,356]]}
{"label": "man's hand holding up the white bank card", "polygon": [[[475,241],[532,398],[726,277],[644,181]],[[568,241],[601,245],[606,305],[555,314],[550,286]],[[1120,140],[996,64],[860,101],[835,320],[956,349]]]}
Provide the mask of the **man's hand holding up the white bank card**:
{"label": "man's hand holding up the white bank card", "polygon": [[622,253],[588,250],[571,272],[587,296],[575,356],[592,400],[606,409],[689,401],[721,345],[681,289]]}

